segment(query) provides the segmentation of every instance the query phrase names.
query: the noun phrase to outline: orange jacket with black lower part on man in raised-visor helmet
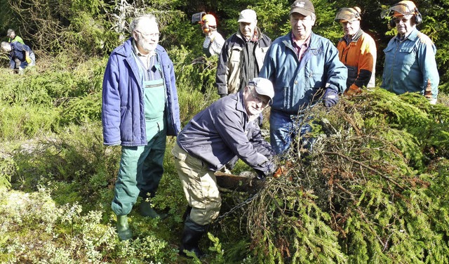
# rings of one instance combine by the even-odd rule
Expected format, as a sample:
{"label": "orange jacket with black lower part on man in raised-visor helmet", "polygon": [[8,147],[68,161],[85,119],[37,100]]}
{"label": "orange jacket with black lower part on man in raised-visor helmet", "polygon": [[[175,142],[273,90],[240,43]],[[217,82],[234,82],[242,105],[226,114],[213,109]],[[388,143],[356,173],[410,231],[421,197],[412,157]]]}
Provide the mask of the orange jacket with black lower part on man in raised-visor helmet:
{"label": "orange jacket with black lower part on man in raised-visor helmet", "polygon": [[347,88],[355,90],[375,87],[376,44],[370,35],[359,29],[354,38],[347,43],[343,37],[338,41],[337,50],[340,61],[348,68]]}

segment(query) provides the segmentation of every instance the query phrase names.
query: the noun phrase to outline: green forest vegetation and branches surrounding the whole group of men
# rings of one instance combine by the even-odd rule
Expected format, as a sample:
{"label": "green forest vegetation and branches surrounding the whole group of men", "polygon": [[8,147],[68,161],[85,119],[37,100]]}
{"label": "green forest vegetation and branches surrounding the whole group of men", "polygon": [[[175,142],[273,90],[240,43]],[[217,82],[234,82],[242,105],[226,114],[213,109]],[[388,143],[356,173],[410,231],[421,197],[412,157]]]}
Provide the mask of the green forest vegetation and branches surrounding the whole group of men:
{"label": "green forest vegetation and branches surrounding the whole group of men", "polygon": [[[313,1],[315,33],[334,44],[338,8],[359,6],[361,27],[383,48],[395,34],[380,13],[396,1]],[[102,145],[102,75],[109,53],[140,13],[160,22],[175,65],[181,119],[217,100],[216,58],[201,54],[194,13],[213,13],[226,38],[253,8],[273,40],[286,34],[291,1],[0,0],[8,28],[36,53],[25,74],[0,64],[0,263],[185,263],[177,256],[186,202],[170,155],[152,201],[164,221],[130,217],[119,242],[110,209],[120,147]],[[436,44],[438,104],[382,89],[311,110],[315,152],[289,158],[288,175],[260,190],[223,190],[222,214],[201,246],[207,263],[449,263],[449,1],[415,1],[418,28]],[[7,41],[2,37],[2,41]],[[267,121],[265,121],[267,123]],[[269,124],[264,124],[265,127]],[[239,162],[236,173],[248,170]],[[140,202],[140,201],[139,201]]]}

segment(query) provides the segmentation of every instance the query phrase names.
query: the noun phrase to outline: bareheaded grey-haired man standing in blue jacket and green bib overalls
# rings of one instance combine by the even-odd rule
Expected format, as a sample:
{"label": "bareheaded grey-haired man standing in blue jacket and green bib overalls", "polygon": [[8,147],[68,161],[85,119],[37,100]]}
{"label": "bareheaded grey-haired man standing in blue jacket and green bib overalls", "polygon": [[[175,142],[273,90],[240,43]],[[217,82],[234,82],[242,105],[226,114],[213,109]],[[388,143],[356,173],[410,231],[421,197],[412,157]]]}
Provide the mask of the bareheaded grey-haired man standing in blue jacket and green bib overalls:
{"label": "bareheaded grey-haired man standing in blue jacket and green bib overalls", "polygon": [[179,105],[173,62],[159,46],[154,15],[130,23],[130,37],[112,51],[102,91],[105,145],[121,145],[112,211],[121,240],[132,237],[127,215],[142,197],[140,213],[164,218],[149,203],[163,174],[166,136],[180,131]]}

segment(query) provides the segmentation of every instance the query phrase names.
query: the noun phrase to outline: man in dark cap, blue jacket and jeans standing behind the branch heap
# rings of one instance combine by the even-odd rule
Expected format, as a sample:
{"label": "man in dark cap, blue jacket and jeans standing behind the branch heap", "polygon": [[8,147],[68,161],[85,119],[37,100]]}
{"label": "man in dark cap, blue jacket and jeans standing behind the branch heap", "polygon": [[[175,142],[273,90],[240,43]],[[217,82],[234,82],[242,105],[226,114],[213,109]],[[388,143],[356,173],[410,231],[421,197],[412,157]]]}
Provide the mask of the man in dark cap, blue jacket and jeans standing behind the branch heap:
{"label": "man in dark cap, blue jacket and jeans standing behind the branch heap", "polygon": [[269,124],[276,154],[283,154],[297,136],[311,131],[307,124],[299,126],[308,107],[321,100],[332,107],[346,89],[347,68],[330,40],[312,32],[315,20],[311,1],[295,1],[290,6],[292,30],[273,42],[259,74],[274,84]]}

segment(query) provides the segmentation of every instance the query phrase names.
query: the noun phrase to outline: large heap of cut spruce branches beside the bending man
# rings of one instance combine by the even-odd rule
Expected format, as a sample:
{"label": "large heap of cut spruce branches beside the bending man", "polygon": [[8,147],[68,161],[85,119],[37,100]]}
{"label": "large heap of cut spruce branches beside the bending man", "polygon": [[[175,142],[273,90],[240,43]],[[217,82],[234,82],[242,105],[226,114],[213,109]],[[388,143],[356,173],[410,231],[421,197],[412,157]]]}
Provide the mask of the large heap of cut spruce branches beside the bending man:
{"label": "large heap of cut spruce branches beside the bending man", "polygon": [[304,120],[312,150],[293,147],[248,207],[256,258],[449,263],[448,107],[376,89]]}

